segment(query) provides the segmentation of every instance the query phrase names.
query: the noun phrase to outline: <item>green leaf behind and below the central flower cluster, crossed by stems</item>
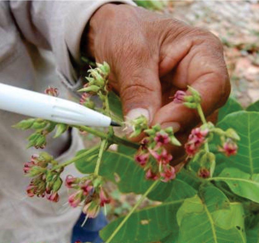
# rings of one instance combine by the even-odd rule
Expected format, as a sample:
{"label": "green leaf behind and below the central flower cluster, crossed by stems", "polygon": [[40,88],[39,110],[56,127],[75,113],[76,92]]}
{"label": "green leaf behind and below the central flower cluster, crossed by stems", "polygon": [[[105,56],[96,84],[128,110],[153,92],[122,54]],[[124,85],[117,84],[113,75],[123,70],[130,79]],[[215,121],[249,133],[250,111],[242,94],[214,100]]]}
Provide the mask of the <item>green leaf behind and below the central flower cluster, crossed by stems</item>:
{"label": "green leaf behind and below the central flower cluster, crossed by stems", "polygon": [[[96,158],[97,154],[87,155],[86,158],[78,160],[75,165],[81,173],[92,173]],[[106,179],[116,183],[119,190],[124,193],[143,194],[153,183],[153,181],[145,179],[143,168],[134,161],[132,156],[114,151],[104,152],[99,173]],[[181,175],[181,173],[179,174]],[[186,195],[194,195],[196,192],[182,179],[176,178],[171,182],[160,182],[148,197],[156,201],[168,200],[175,193],[174,190],[181,190],[181,193]]]}

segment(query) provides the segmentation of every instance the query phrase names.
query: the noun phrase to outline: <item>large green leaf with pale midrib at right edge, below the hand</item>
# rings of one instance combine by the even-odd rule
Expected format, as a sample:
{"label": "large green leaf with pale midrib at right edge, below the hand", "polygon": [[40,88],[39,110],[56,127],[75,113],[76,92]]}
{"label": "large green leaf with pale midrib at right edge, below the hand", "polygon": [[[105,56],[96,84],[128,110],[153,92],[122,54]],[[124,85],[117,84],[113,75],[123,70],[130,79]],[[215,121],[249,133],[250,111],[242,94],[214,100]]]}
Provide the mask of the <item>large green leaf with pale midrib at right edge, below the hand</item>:
{"label": "large green leaf with pale midrib at right edge, below the hand", "polygon": [[236,167],[250,175],[259,173],[259,113],[238,111],[227,115],[218,123],[218,127],[226,130],[233,128],[240,141],[237,155],[224,157],[228,167]]}

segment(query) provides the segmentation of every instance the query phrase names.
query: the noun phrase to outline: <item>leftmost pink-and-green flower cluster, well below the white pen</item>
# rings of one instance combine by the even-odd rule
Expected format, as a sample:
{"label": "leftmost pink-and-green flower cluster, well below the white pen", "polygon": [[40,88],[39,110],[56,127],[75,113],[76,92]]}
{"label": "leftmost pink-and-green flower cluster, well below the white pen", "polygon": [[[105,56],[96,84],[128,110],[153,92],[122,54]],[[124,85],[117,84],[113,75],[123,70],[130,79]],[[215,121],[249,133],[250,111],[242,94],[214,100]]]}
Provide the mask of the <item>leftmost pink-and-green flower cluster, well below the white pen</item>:
{"label": "leftmost pink-and-green flower cluster, well below the white pen", "polygon": [[53,169],[57,162],[42,152],[40,155],[32,155],[31,160],[24,164],[24,173],[28,177],[33,177],[27,187],[27,195],[29,197],[40,196],[45,197],[53,202],[59,200],[58,190],[62,185],[60,173],[63,168]]}

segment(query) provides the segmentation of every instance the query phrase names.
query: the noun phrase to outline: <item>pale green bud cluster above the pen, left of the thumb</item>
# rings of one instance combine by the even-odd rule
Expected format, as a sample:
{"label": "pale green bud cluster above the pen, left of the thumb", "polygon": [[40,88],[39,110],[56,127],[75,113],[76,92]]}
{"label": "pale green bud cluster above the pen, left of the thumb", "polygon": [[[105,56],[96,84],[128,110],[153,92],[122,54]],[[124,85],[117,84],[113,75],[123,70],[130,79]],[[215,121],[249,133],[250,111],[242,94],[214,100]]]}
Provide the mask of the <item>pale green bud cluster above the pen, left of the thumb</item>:
{"label": "pale green bud cluster above the pen, left of the thumb", "polygon": [[95,107],[94,102],[91,101],[92,95],[98,95],[103,102],[108,95],[107,84],[110,67],[106,62],[103,62],[103,64],[96,63],[96,65],[97,68],[88,70],[90,73],[89,77],[86,77],[88,83],[78,90],[79,92],[84,92],[81,96],[80,104],[90,109]]}

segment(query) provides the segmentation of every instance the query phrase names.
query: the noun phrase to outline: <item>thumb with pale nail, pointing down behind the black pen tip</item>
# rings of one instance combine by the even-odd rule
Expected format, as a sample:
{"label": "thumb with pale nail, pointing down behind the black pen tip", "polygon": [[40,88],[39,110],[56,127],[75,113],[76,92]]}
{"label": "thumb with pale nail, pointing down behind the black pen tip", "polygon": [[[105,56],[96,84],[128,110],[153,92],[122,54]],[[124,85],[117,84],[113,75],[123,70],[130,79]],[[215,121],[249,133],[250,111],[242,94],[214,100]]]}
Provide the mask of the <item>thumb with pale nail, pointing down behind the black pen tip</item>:
{"label": "thumb with pale nail, pointing down behind the black pen tip", "polygon": [[161,107],[158,65],[136,66],[118,75],[123,114],[126,120],[144,115],[150,124]]}

